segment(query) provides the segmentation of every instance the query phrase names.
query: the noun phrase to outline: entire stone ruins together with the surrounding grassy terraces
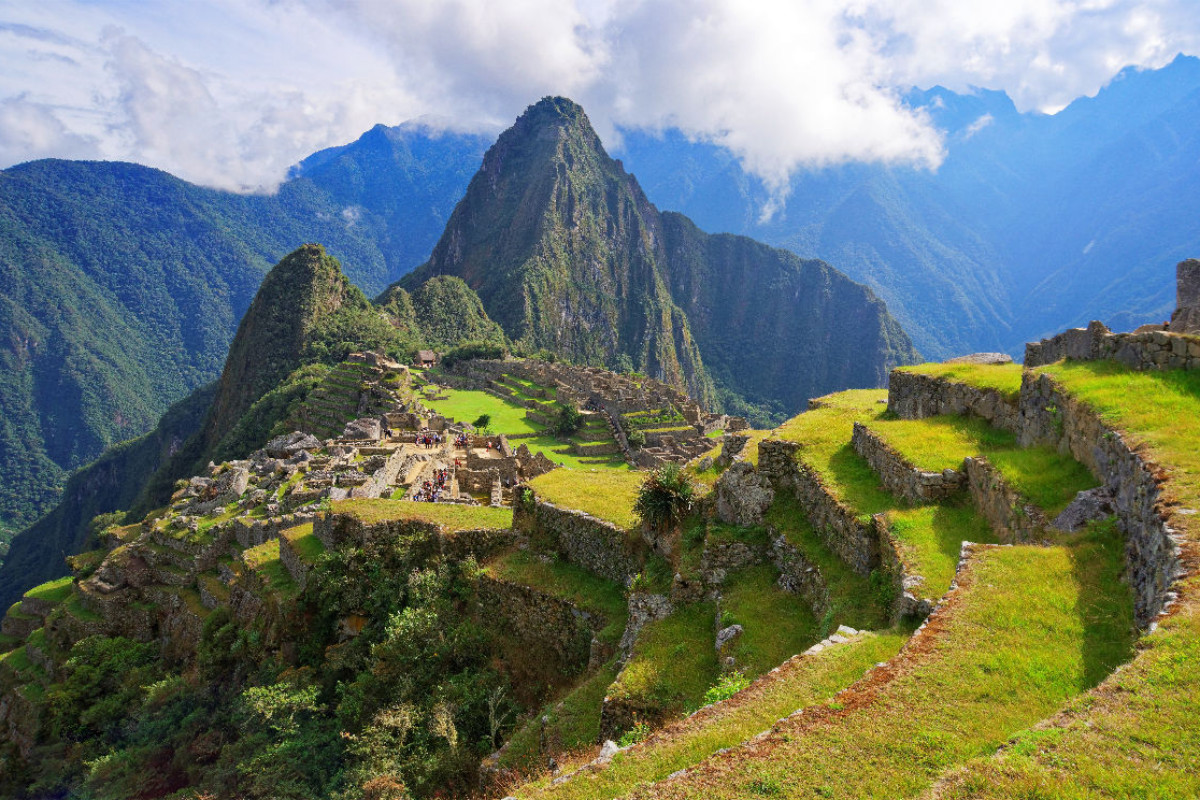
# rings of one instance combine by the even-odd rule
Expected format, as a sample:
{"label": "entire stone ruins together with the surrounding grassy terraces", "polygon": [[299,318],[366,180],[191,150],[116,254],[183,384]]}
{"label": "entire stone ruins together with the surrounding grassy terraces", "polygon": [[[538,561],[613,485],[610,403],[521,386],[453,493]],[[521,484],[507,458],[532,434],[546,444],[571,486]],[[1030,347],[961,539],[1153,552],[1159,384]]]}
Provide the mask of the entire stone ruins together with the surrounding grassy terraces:
{"label": "entire stone ruins together with the surrounding grassy terraces", "polygon": [[[1147,769],[1187,796],[1194,753],[1147,734],[1200,697],[1178,668],[1200,642],[1193,348],[1093,325],[757,431],[640,375],[354,354],[295,431],[179,481],[8,610],[5,763],[58,763],[44,698],[100,642],[191,680],[274,664],[264,687],[316,703],[341,664],[452,754],[440,673],[388,672],[407,648],[485,676],[450,723],[484,745],[439,778],[472,796],[1116,796]],[[652,475],[690,487],[665,528],[638,511]],[[418,608],[469,646],[395,627]],[[390,729],[401,706],[372,702],[362,730]]]}

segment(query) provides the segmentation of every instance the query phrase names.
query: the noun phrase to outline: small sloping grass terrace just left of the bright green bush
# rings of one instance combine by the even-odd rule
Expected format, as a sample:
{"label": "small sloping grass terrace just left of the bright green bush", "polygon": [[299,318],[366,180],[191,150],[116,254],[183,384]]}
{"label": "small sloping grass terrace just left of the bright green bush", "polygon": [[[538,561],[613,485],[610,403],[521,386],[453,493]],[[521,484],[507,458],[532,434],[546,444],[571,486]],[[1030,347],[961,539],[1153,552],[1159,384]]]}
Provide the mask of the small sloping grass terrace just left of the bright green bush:
{"label": "small sloping grass terrace just left of the bright green bush", "polygon": [[713,603],[702,602],[647,622],[608,696],[665,716],[700,706],[720,673],[713,646],[715,614]]}

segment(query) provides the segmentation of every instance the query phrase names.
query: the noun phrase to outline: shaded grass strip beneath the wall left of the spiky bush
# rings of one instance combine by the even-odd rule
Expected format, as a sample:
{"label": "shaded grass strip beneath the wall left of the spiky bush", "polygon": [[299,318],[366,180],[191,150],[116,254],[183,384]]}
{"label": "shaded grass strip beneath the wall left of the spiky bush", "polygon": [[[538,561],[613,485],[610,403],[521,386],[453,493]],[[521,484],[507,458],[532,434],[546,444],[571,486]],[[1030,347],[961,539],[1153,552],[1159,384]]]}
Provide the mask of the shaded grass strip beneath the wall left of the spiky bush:
{"label": "shaded grass strip beneath the wall left of the spiky bush", "polygon": [[490,563],[487,571],[502,581],[532,587],[601,614],[606,622],[598,633],[601,642],[616,643],[625,630],[624,588],[583,567],[559,560],[546,563],[526,551],[514,551]]}

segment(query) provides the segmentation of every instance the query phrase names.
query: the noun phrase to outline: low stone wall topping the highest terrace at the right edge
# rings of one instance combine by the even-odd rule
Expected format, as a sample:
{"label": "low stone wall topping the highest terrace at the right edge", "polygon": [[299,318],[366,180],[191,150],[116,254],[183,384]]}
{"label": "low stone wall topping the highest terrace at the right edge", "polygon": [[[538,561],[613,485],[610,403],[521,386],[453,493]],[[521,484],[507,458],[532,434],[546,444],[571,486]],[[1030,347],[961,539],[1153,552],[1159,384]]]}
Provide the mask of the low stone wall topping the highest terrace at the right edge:
{"label": "low stone wall topping the highest terrace at the right edge", "polygon": [[1164,330],[1114,333],[1093,321],[1025,345],[1027,367],[1063,359],[1112,360],[1132,369],[1200,369],[1200,337]]}

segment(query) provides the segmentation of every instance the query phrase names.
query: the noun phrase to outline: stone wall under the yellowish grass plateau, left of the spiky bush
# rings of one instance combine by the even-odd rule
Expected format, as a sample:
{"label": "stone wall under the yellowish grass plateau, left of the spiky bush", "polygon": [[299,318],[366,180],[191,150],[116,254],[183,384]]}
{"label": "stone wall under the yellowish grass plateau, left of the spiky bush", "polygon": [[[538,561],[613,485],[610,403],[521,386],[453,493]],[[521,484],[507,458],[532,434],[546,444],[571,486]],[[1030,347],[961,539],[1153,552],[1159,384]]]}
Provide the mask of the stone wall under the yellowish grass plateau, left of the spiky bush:
{"label": "stone wall under the yellowish grass plateau, left of the spiky bush", "polygon": [[642,571],[640,540],[582,511],[560,509],[535,497],[532,506],[515,505],[512,527],[528,531],[571,564],[620,585],[629,585]]}

